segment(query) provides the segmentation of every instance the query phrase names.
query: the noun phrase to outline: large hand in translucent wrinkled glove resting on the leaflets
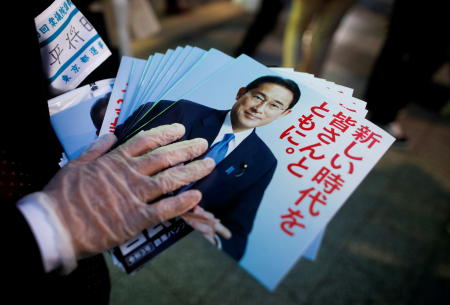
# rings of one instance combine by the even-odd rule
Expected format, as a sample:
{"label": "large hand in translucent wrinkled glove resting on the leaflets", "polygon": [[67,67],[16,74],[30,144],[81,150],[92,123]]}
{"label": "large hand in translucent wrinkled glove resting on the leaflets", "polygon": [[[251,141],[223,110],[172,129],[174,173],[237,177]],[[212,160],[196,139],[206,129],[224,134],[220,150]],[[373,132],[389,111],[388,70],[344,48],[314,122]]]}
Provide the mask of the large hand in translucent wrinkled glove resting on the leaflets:
{"label": "large hand in translucent wrinkled glove resting on the leaflets", "polygon": [[172,167],[207,149],[204,139],[167,145],[184,132],[181,124],[160,126],[139,133],[107,154],[117,139],[114,135],[100,137],[44,188],[39,202],[50,217],[60,221],[59,234],[66,236],[76,258],[116,246],[200,201],[201,193],[189,190],[147,203],[203,178],[214,168],[209,158]]}

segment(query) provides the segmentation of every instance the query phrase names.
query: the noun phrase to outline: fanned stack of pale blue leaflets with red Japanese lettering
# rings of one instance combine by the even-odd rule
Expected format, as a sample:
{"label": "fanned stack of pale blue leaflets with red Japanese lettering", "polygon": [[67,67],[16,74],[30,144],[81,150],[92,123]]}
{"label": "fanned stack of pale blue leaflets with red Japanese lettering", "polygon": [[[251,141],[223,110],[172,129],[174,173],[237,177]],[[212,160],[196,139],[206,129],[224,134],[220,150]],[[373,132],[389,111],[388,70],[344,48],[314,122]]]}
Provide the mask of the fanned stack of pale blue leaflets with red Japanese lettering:
{"label": "fanned stack of pale blue leaflets with red Japanese lettering", "polygon": [[[301,94],[292,109],[267,88],[259,90],[261,84],[241,89],[266,76],[297,84]],[[234,150],[199,188],[204,194],[202,207],[233,234],[230,240],[217,238],[216,245],[271,290],[300,257],[315,259],[327,224],[394,142],[365,119],[366,103],[352,97],[352,89],[215,49],[186,46],[147,60],[123,57],[115,80],[76,89],[49,105],[58,108],[74,96],[80,100],[81,93],[76,94],[80,90],[88,102],[52,115],[69,159],[77,157],[96,133],[118,131],[124,142],[140,130],[180,122],[186,127],[184,139],[204,137],[213,144],[227,122],[233,130],[239,122],[233,111],[244,109],[246,122],[257,122],[255,130],[236,133]],[[102,94],[95,99],[86,90]],[[253,106],[245,104],[244,95],[252,103],[258,100],[261,114],[248,110]],[[100,127],[94,122],[103,113]],[[270,115],[273,120],[264,121]],[[91,130],[89,136],[86,130]],[[172,219],[144,230],[111,253],[131,273],[190,231],[184,221]]]}

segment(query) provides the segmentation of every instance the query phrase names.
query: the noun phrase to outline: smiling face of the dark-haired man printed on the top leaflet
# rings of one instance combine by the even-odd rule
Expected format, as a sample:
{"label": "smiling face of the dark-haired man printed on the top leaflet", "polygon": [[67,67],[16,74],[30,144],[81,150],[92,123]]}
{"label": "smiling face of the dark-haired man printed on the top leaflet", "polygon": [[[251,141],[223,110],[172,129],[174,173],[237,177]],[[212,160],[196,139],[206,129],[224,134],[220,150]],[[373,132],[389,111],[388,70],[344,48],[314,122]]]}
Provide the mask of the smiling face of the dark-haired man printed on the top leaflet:
{"label": "smiling face of the dark-haired man printed on the top leaflet", "polygon": [[236,103],[231,109],[233,131],[267,125],[291,112],[287,109],[294,98],[293,93],[280,85],[263,83],[250,91],[239,89]]}

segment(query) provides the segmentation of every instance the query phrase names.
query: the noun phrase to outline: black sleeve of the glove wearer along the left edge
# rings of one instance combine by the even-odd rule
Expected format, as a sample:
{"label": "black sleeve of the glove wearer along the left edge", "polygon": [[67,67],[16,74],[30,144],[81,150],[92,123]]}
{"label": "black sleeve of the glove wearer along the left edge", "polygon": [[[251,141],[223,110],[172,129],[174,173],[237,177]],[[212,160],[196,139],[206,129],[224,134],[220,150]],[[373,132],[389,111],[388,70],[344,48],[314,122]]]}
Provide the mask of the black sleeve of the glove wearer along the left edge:
{"label": "black sleeve of the glove wearer along the left edge", "polygon": [[[8,60],[3,61],[6,81],[2,89],[9,98],[2,104],[0,122],[3,131],[0,200],[3,253],[7,258],[2,268],[7,269],[8,281],[15,283],[14,280],[18,280],[20,286],[33,283],[33,279],[45,272],[37,242],[16,202],[24,195],[42,189],[58,169],[62,152],[50,125],[48,82],[42,72],[34,24],[34,17],[51,2],[8,3],[7,11],[20,12],[21,20],[14,31],[5,31],[3,37],[12,48],[5,57]],[[10,24],[4,24],[7,18],[3,19],[2,28],[10,28]]]}

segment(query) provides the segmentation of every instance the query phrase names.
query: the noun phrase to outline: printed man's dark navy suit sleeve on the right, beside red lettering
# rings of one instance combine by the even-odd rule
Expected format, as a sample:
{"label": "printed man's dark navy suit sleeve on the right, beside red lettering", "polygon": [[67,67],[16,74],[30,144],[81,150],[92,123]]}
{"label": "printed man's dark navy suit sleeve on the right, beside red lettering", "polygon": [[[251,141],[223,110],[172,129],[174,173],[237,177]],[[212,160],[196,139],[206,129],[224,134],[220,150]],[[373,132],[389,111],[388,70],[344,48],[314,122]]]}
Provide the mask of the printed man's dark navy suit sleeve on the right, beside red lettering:
{"label": "printed man's dark navy suit sleeve on the right, beside red lettering", "polygon": [[236,261],[239,261],[245,253],[256,212],[275,169],[276,162],[261,179],[235,197],[232,210],[221,218],[222,224],[233,234],[228,240],[220,237],[222,249]]}

